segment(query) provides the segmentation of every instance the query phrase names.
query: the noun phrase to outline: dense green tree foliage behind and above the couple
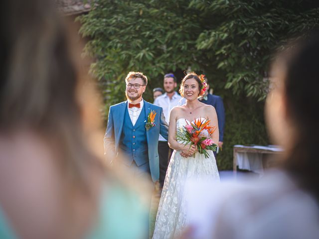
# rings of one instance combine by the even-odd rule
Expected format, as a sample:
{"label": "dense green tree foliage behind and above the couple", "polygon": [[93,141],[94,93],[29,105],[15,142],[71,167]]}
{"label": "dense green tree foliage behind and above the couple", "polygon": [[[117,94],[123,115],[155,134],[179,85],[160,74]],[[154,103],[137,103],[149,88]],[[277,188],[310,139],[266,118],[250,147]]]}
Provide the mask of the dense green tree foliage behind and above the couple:
{"label": "dense green tree foliage behind and above the couple", "polygon": [[[242,104],[253,104],[265,98],[267,71],[276,47],[318,27],[319,8],[312,2],[95,0],[92,10],[78,20],[82,23],[81,34],[89,38],[85,53],[97,59],[91,71],[100,80],[105,112],[108,106],[124,100],[124,78],[129,71],[142,71],[148,76],[144,98],[152,101],[151,89],[161,87],[164,73],[181,75],[191,69],[209,76],[215,92],[228,102],[227,120],[235,123],[232,114],[241,113],[229,109],[238,106],[239,99]],[[245,102],[243,96],[254,100]],[[262,115],[262,106],[257,108]],[[247,119],[249,125],[254,117],[238,119]],[[263,134],[260,138],[266,138],[262,117],[256,120]],[[225,134],[234,133],[228,131],[228,125],[226,121]],[[243,133],[240,135],[243,138]],[[267,140],[256,141],[253,143]]]}

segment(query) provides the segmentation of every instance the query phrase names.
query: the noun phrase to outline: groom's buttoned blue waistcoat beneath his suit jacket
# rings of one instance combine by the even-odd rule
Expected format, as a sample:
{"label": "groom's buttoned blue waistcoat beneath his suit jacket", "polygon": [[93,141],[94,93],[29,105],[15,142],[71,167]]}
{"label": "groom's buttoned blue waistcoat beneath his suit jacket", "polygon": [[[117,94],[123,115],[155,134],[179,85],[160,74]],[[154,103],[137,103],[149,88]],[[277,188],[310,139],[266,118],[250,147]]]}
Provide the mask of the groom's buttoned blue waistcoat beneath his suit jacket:
{"label": "groom's buttoned blue waistcoat beneath his suit jacket", "polygon": [[149,162],[144,107],[145,106],[143,106],[141,114],[134,126],[130,119],[128,108],[126,108],[125,111],[124,126],[119,148],[127,156],[128,165],[131,165],[133,161],[135,161],[138,166]]}

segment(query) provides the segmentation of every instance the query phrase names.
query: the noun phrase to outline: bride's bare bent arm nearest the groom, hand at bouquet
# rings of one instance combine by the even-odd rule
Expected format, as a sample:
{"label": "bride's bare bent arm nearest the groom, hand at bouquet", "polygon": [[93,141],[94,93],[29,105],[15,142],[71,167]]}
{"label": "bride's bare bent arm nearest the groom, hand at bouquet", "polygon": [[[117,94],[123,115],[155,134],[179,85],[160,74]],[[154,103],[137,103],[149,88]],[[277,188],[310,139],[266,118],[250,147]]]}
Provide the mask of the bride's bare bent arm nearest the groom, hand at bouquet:
{"label": "bride's bare bent arm nearest the groom, hand at bouquet", "polygon": [[192,145],[189,148],[189,144],[183,144],[179,143],[176,140],[176,120],[177,120],[177,114],[178,108],[175,107],[170,111],[169,116],[169,126],[168,126],[168,145],[170,148],[175,150],[181,150],[183,153],[187,155],[191,155],[195,152],[196,148],[194,145]]}

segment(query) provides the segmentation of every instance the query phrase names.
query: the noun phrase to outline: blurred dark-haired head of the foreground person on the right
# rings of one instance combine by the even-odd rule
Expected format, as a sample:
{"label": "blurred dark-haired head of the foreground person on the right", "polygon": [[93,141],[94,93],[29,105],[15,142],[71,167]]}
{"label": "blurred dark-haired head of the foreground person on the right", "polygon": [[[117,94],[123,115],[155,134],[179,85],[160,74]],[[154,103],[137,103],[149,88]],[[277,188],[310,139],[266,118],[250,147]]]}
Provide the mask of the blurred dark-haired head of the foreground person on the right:
{"label": "blurred dark-haired head of the foreground person on the right", "polygon": [[284,168],[319,199],[319,37],[292,42],[274,61],[266,121]]}

